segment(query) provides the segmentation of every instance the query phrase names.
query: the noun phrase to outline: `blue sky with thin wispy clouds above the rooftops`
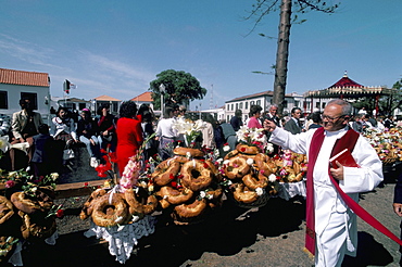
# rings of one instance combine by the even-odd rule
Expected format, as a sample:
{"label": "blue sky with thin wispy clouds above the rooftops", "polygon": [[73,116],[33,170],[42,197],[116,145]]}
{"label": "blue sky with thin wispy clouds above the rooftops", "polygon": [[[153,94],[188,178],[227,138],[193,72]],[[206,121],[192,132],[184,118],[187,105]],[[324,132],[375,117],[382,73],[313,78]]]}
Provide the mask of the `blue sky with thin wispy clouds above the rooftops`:
{"label": "blue sky with thin wispy clouds above the rooftops", "polygon": [[[190,73],[208,89],[191,107],[273,90],[278,13],[254,31],[255,0],[0,0],[0,67],[49,73],[63,97],[131,99],[165,69]],[[287,93],[324,89],[348,71],[364,86],[402,77],[402,1],[341,1],[291,27]],[[212,93],[211,93],[212,92]],[[211,94],[213,98],[211,98]]]}

